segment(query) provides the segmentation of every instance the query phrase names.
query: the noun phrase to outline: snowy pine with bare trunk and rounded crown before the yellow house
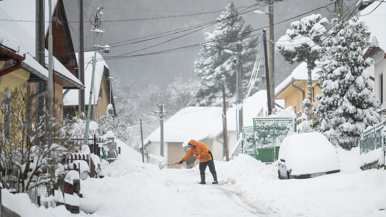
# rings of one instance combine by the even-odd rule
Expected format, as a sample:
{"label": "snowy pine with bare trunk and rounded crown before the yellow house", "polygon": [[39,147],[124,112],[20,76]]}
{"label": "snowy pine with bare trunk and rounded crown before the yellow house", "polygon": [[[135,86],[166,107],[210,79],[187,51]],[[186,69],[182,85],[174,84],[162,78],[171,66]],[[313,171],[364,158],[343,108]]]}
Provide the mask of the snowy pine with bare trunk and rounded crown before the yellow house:
{"label": "snowy pine with bare trunk and rounded crown before the yellow house", "polygon": [[[307,98],[303,100],[303,104],[308,107],[312,106],[312,77],[311,70],[316,66],[315,61],[320,60],[325,51],[323,49],[323,34],[326,32],[325,26],[328,24],[326,18],[322,18],[320,14],[313,14],[308,17],[303,17],[300,21],[291,23],[292,30],[287,29],[284,36],[281,36],[276,43],[276,49],[284,59],[293,64],[295,62],[307,63]],[[308,118],[310,119],[310,112]]]}

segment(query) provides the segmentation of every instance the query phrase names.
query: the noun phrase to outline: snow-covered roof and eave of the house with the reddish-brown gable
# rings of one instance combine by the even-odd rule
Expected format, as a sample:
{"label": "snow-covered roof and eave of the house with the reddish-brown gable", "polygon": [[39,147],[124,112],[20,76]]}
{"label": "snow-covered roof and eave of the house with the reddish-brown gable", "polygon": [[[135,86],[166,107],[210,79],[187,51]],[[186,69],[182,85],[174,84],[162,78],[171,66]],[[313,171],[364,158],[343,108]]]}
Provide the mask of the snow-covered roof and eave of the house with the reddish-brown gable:
{"label": "snow-covered roof and eave of the house with the reddish-brown gable", "polygon": [[[15,46],[22,46],[26,53],[36,58],[36,33],[35,33],[35,22],[15,22],[8,20],[29,20],[34,21],[36,17],[35,1],[19,0],[19,1],[0,1],[0,28],[3,32],[3,36],[8,40],[14,41],[12,44]],[[52,5],[56,4],[56,0]],[[48,0],[46,0],[48,5]],[[48,21],[48,8],[45,10],[45,19]],[[45,22],[46,30],[48,29],[48,22]],[[3,31],[4,30],[4,31]],[[8,32],[5,32],[8,30]],[[12,36],[12,37],[9,37]],[[10,39],[12,38],[12,39]],[[1,40],[0,40],[1,41]],[[48,51],[45,49],[46,56],[46,68],[48,68]],[[78,88],[83,88],[82,83],[76,78],[66,67],[59,62],[58,59],[52,58],[54,74],[65,81],[73,84]],[[28,61],[28,60],[27,60]],[[34,63],[26,62],[29,66],[36,65]],[[39,67],[40,68],[40,67]],[[43,68],[43,67],[41,67]],[[36,68],[36,70],[38,70]],[[47,71],[47,70],[46,70]],[[43,71],[40,71],[44,74]],[[44,75],[48,77],[48,72]],[[43,80],[46,80],[43,78]]]}

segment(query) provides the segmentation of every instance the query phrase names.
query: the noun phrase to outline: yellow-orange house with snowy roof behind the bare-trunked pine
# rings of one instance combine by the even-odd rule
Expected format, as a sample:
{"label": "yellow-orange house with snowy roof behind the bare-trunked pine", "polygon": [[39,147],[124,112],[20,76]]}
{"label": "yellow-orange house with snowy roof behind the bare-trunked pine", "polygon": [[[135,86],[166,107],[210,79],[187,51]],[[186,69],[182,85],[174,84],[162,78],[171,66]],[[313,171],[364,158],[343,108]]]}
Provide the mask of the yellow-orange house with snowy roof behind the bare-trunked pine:
{"label": "yellow-orange house with snowy roof behind the bare-trunked pine", "polygon": [[[312,85],[318,82],[317,71],[317,68],[311,71]],[[284,108],[292,106],[295,112],[299,112],[302,109],[303,99],[307,98],[307,79],[307,63],[302,62],[292,71],[291,75],[276,86],[275,99],[284,99]],[[311,96],[313,105],[318,103],[318,100],[315,100],[317,94],[322,94],[322,92],[317,86],[313,86]]]}

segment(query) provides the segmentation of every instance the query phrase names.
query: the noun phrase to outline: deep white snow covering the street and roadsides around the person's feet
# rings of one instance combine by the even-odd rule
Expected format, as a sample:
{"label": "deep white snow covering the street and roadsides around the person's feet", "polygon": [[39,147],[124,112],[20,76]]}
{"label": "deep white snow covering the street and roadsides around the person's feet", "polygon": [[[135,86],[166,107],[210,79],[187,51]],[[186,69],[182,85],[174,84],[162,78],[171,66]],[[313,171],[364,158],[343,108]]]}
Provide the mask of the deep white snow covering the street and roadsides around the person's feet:
{"label": "deep white snow covering the street and roadsides around the person's feet", "polygon": [[[26,207],[30,217],[385,216],[386,210],[380,209],[386,209],[386,172],[362,171],[359,147],[336,150],[340,173],[303,180],[279,180],[277,161],[266,165],[245,154],[229,162],[215,161],[217,185],[211,184],[208,169],[207,184],[197,184],[198,166],[160,170],[157,165],[122,158],[103,166],[104,178],[81,180],[81,214],[69,214],[63,206],[35,208],[25,198],[15,198],[21,194],[5,190],[3,204]],[[13,202],[5,203],[10,197],[14,197]],[[54,215],[54,210],[60,211]]]}

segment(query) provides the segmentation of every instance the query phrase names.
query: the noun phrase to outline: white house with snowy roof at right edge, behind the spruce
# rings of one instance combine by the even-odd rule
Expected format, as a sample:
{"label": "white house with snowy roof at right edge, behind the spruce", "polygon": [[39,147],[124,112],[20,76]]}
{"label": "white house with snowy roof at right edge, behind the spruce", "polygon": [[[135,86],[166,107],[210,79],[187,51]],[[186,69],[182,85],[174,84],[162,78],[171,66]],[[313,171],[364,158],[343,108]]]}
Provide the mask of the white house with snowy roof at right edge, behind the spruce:
{"label": "white house with snowy roof at right edge, behind the spruce", "polygon": [[[364,58],[372,58],[375,64],[366,70],[369,72],[374,81],[374,96],[379,99],[380,107],[379,114],[386,115],[386,97],[385,87],[386,81],[384,74],[386,73],[386,29],[384,28],[384,20],[386,19],[386,4],[374,2],[368,5],[361,11],[360,21],[365,21],[369,27],[367,35],[371,45],[364,51]],[[370,77],[370,78],[371,78]],[[381,116],[381,119],[385,118]]]}

